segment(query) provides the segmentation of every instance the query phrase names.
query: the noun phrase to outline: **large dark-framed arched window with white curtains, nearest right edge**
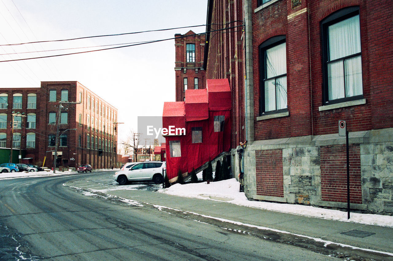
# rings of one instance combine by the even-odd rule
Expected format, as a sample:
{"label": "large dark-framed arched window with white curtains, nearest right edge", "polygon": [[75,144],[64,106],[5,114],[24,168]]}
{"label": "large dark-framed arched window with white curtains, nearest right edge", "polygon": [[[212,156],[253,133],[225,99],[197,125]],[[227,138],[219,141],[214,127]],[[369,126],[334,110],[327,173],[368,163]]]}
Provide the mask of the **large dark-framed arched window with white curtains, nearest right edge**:
{"label": "large dark-framed arched window with white curtains, nearest right edge", "polygon": [[321,21],[323,103],[363,99],[359,7],[332,13]]}

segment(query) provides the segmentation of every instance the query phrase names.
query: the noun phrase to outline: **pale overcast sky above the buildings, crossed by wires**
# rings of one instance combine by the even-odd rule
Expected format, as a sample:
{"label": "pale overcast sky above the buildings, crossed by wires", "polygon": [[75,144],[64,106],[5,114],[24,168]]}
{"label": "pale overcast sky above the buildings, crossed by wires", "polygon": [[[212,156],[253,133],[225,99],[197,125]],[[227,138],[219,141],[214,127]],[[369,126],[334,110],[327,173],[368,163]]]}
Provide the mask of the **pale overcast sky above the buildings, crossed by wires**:
{"label": "pale overcast sky above the buildings, crossed by wires", "polygon": [[[206,11],[207,0],[1,0],[0,44],[196,26],[206,24]],[[202,33],[205,27],[0,46],[0,61],[85,49],[7,55],[16,52],[167,39],[189,30]],[[120,140],[131,129],[137,131],[138,116],[161,116],[163,102],[174,101],[174,50],[174,40],[169,40],[87,54],[3,62],[0,87],[79,81],[118,109],[118,122],[125,122],[119,125]]]}

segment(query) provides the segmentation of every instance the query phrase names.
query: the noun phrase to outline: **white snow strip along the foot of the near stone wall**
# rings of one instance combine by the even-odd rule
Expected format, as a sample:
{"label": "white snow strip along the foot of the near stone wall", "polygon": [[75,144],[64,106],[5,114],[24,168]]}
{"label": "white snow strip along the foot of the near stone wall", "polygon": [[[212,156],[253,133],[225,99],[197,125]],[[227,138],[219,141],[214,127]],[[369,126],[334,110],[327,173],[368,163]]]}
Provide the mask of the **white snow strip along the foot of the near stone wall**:
{"label": "white snow strip along the foot of the near stone wall", "polygon": [[307,217],[393,227],[392,216],[351,213],[351,218],[348,220],[347,212],[339,210],[323,209],[320,207],[298,204],[250,201],[247,200],[244,192],[239,192],[239,186],[240,183],[233,178],[230,180],[210,182],[210,184],[207,184],[207,182],[190,183],[185,185],[175,184],[167,189],[160,189],[158,192],[190,198],[226,201],[246,207],[303,215]]}

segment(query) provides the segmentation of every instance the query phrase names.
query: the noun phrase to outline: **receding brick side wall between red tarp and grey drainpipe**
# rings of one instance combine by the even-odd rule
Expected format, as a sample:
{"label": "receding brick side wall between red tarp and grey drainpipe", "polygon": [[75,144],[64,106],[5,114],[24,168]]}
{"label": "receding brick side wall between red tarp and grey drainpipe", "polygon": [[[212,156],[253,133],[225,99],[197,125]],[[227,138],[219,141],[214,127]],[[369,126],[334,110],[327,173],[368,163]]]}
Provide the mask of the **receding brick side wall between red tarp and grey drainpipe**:
{"label": "receding brick side wall between red tarp and grey drainpipe", "polygon": [[[242,26],[243,1],[210,0],[210,31]],[[226,24],[231,22],[229,24]],[[207,79],[228,79],[232,97],[231,148],[244,142],[244,33],[242,27],[211,32],[208,56],[205,59]],[[206,38],[208,39],[208,38]]]}

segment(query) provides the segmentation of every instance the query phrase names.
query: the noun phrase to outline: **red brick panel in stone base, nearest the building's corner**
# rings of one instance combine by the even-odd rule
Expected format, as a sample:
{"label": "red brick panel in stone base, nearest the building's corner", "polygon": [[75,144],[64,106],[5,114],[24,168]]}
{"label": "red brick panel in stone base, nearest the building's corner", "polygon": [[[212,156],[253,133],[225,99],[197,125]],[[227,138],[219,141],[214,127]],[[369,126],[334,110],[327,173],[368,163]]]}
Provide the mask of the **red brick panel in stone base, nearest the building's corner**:
{"label": "red brick panel in stone base, nearest the building's corner", "polygon": [[283,151],[257,150],[255,165],[257,195],[283,197]]}

